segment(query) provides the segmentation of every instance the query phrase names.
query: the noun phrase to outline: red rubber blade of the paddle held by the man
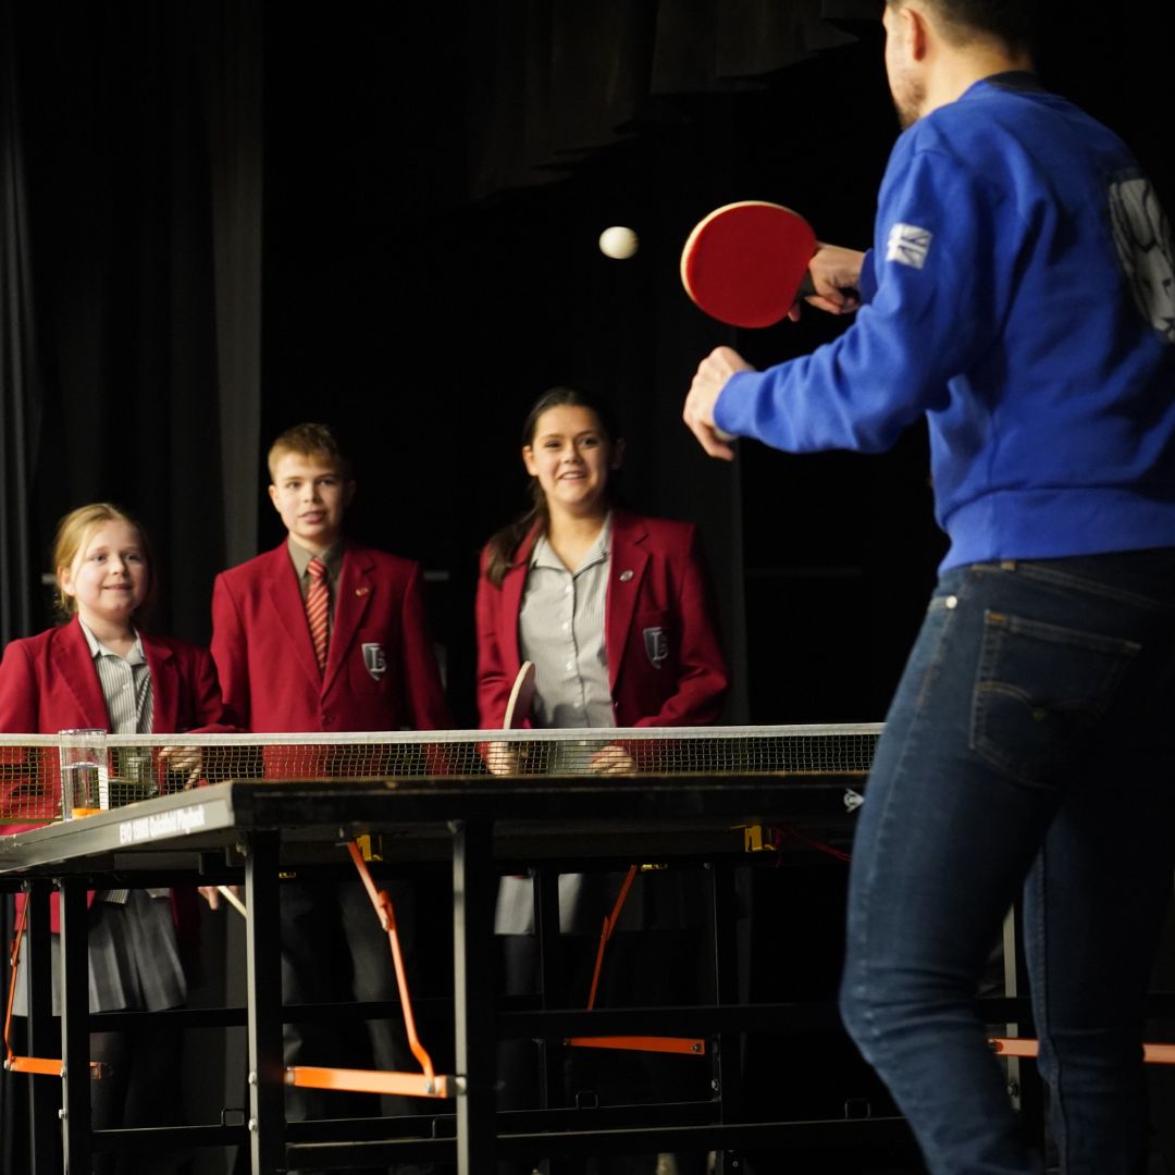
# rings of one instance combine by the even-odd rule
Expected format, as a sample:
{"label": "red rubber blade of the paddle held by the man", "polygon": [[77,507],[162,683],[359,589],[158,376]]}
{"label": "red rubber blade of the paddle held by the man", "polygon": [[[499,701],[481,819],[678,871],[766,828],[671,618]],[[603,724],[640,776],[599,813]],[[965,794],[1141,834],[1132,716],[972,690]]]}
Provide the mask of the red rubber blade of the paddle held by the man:
{"label": "red rubber blade of the paddle held by the man", "polygon": [[719,322],[771,327],[804,293],[815,249],[815,233],[799,213],[740,200],[697,223],[682,250],[682,284]]}

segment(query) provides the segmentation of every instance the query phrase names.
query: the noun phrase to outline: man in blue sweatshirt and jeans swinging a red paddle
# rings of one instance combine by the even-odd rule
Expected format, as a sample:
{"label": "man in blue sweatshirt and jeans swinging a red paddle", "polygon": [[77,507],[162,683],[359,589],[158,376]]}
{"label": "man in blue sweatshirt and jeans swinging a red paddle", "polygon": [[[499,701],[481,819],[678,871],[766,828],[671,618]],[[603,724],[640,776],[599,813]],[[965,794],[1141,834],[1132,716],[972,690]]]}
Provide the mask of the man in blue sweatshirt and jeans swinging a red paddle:
{"label": "man in blue sweatshirt and jeans swinging a red paddle", "polygon": [[1115,1175],[1147,1163],[1175,858],[1175,266],[1128,150],[1033,75],[1034,8],[888,0],[906,129],[873,248],[810,267],[857,318],[763,372],[718,348],[685,419],[731,459],[926,417],[951,548],[870,778],[841,1008],[933,1171],[1039,1171],[974,999],[1022,887],[1062,1170]]}

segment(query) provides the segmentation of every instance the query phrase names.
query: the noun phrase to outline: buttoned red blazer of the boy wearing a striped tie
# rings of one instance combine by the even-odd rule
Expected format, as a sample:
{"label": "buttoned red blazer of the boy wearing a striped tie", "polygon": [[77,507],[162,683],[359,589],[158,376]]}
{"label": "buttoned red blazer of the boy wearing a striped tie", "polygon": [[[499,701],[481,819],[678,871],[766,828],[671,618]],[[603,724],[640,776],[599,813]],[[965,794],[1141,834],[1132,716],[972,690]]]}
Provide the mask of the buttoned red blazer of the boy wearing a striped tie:
{"label": "buttoned red blazer of the boy wearing a striped tie", "polygon": [[452,725],[419,565],[384,551],[344,549],[325,672],[318,672],[284,539],[216,577],[212,651],[224,701],[251,731]]}

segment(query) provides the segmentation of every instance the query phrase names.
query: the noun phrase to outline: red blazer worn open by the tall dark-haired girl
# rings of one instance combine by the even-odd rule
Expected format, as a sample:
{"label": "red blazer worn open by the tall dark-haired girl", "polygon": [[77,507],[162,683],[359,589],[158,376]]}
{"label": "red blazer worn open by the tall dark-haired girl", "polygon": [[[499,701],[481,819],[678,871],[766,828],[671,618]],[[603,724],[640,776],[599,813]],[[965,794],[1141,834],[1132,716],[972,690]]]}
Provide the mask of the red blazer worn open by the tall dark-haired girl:
{"label": "red blazer worn open by the tall dark-haired girl", "polygon": [[[477,584],[477,709],[501,728],[522,665],[518,615],[537,531],[499,588]],[[604,643],[617,726],[701,726],[721,712],[726,662],[692,523],[612,511]]]}

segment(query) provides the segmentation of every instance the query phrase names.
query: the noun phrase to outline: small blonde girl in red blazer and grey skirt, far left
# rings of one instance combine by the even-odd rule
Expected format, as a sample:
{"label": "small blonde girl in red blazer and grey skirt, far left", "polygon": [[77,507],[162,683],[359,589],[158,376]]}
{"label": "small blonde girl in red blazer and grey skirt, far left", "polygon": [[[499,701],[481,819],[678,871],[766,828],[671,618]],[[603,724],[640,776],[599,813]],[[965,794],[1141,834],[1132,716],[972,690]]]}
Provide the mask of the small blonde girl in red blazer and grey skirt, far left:
{"label": "small blonde girl in red blazer and grey skirt, far left", "polygon": [[[39,636],[13,640],[5,650],[0,662],[0,731],[53,734],[75,727],[115,733],[234,730],[208,652],[141,629],[155,582],[147,536],[133,518],[106,503],[74,510],[58,528],[53,566],[58,603],[68,619]],[[99,659],[103,662],[101,671]],[[130,686],[123,691],[129,698],[126,703],[119,700],[120,683]],[[168,748],[161,756],[159,771],[181,767],[187,773],[199,768],[192,756]],[[12,774],[12,770],[6,772]],[[55,774],[46,759],[41,778],[53,779]],[[59,787],[46,793],[32,811],[19,787],[19,783],[5,785],[0,811],[43,820],[60,808]],[[173,907],[169,897],[167,889],[89,895],[92,1012],[155,1010],[184,1002],[187,989],[175,925],[179,907]],[[55,894],[52,901],[56,931]],[[56,956],[54,940],[54,974]],[[108,1063],[110,1075],[94,1082],[94,1124],[166,1124],[174,1117],[179,1045],[179,1034],[172,1039],[157,1027],[149,1040],[135,1033],[95,1034],[92,1060]],[[112,1156],[95,1157],[95,1164],[107,1162],[113,1163]],[[143,1162],[145,1170],[167,1169],[157,1155]],[[95,1170],[106,1169],[114,1168],[95,1166]],[[120,1168],[130,1169],[139,1168]]]}

